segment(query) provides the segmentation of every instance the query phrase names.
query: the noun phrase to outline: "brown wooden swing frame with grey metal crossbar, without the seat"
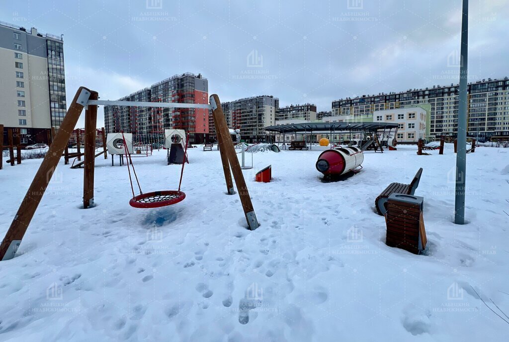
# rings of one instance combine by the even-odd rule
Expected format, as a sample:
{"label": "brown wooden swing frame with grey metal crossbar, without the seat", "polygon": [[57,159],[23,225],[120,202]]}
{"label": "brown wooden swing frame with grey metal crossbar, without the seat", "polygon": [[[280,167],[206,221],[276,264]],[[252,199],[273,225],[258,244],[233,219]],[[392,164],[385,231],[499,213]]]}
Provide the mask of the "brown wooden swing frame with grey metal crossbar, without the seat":
{"label": "brown wooden swing frame with grey metal crossbar, without the seat", "polygon": [[[260,225],[249,197],[242,169],[235,153],[233,141],[230,138],[228,125],[217,95],[210,96],[210,104],[194,103],[168,103],[168,102],[129,102],[129,101],[104,101],[98,100],[99,93],[80,87],[72,100],[60,129],[54,137],[44,160],[39,166],[32,184],[26,192],[16,215],[0,244],[0,260],[14,258],[21,240],[29,227],[32,218],[41,202],[42,196],[53,176],[62,153],[68,145],[69,137],[74,130],[83,108],[85,108],[85,147],[83,163],[83,209],[94,207],[94,166],[95,166],[95,140],[97,126],[98,105],[122,105],[122,106],[145,106],[145,107],[168,107],[168,108],[206,108],[212,109],[212,117],[217,132],[219,152],[227,185],[227,193],[235,193],[232,181],[232,173],[237,185],[242,209],[250,230],[255,230]],[[230,171],[231,168],[231,171]]]}

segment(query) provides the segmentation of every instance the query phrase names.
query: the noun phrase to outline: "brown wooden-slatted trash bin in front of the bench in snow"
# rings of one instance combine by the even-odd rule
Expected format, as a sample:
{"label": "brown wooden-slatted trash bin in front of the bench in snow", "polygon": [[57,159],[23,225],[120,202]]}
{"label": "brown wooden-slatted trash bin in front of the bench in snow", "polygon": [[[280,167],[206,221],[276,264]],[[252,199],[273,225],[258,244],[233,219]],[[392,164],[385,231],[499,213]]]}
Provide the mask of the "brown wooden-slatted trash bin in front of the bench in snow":
{"label": "brown wooden-slatted trash bin in front of the bench in snow", "polygon": [[386,244],[420,254],[426,248],[426,230],[422,217],[424,198],[392,193],[387,202]]}

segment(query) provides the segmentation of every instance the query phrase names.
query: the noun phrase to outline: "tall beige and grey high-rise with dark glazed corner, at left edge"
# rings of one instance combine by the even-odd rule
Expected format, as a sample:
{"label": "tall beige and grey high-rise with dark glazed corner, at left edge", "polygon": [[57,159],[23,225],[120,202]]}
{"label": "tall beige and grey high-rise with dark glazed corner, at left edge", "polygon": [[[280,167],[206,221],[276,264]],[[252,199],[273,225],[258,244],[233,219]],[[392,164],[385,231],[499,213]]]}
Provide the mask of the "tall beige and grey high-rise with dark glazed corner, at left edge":
{"label": "tall beige and grey high-rise with dark glazed corner, at left edge", "polygon": [[0,123],[21,144],[48,143],[66,114],[61,36],[0,22]]}

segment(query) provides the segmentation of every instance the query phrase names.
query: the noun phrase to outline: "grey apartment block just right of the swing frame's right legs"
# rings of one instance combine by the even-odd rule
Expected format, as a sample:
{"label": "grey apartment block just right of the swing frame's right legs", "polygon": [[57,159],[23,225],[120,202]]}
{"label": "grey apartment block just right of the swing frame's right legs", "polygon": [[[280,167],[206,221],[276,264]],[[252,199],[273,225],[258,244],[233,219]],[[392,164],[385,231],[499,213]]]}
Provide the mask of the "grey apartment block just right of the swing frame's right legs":
{"label": "grey apartment block just right of the swing frame's right legs", "polygon": [[[265,140],[263,128],[275,124],[279,99],[269,95],[261,95],[223,102],[221,107],[228,127],[240,129],[240,135],[243,140],[248,143],[256,143]],[[214,126],[212,117],[210,118],[209,126]]]}

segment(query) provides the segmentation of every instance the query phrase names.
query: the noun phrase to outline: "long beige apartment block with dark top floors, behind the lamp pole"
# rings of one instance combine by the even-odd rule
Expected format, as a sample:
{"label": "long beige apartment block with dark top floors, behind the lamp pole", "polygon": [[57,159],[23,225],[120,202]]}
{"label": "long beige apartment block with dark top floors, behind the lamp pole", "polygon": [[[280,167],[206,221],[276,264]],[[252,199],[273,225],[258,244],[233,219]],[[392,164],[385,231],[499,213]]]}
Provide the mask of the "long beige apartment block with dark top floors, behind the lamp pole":
{"label": "long beige apartment block with dark top floors, behind the lamp pole", "polygon": [[[375,110],[430,104],[431,137],[455,136],[458,129],[459,85],[409,89],[399,93],[380,93],[332,102],[334,116],[353,115],[356,118],[373,115]],[[483,79],[468,84],[469,136],[480,140],[509,136],[509,79]]]}

